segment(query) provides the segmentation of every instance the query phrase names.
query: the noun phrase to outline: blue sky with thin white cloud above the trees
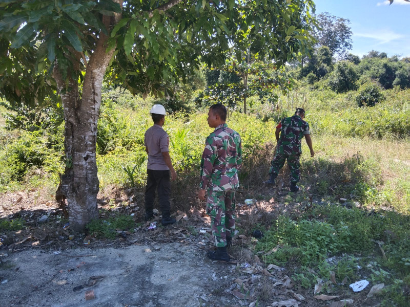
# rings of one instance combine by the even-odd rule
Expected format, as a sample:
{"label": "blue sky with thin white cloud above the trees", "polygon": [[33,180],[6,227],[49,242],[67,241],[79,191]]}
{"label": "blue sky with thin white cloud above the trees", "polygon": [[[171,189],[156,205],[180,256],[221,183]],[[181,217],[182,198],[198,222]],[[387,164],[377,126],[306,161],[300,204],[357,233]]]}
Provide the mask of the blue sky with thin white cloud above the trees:
{"label": "blue sky with thin white cloud above the trees", "polygon": [[[410,56],[410,3],[394,0],[314,0],[316,14],[349,19],[353,32],[351,53],[360,57],[376,50],[387,55]],[[406,21],[407,20],[407,21]]]}

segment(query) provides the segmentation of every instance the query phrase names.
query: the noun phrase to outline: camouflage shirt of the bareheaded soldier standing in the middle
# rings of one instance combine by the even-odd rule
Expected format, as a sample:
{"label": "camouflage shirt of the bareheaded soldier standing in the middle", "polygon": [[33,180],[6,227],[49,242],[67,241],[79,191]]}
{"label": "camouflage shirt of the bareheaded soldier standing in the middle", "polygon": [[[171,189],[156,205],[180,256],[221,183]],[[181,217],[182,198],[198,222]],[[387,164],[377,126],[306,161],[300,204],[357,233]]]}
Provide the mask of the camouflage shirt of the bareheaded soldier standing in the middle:
{"label": "camouflage shirt of the bareheaded soldier standing in the middle", "polygon": [[227,124],[217,126],[205,141],[199,187],[213,191],[237,189],[241,163],[242,145],[239,134],[228,128]]}

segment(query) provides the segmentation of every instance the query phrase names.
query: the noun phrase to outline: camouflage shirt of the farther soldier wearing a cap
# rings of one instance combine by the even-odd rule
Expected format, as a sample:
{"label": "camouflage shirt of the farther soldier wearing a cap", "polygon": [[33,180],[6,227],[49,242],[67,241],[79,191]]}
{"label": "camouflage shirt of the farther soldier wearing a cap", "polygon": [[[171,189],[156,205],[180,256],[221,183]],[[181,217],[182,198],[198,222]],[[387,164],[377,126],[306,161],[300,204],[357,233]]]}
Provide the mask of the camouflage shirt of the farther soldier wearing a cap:
{"label": "camouflage shirt of the farther soldier wearing a cap", "polygon": [[281,131],[276,152],[286,155],[302,153],[301,140],[303,135],[310,134],[309,124],[294,115],[282,119],[277,128]]}

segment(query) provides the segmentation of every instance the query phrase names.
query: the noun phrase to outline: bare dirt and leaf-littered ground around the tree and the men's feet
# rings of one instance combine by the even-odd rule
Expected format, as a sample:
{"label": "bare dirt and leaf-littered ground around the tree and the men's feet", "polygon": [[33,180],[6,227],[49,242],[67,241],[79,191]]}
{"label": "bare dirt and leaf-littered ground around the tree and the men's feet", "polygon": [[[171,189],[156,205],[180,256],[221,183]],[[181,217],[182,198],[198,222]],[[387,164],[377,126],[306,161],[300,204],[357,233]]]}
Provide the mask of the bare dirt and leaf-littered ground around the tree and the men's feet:
{"label": "bare dirt and leaf-littered ground around the tree and the men's feet", "polygon": [[[189,212],[174,210],[176,224],[159,223],[146,230],[149,223],[142,221],[141,200],[115,192],[99,198],[100,219],[127,214],[136,228],[118,230],[113,239],[105,239],[71,232],[63,211],[54,201],[38,197],[38,191],[3,194],[0,222],[20,219],[25,227],[0,231],[0,306],[327,305],[313,297],[313,289],[302,289],[288,277],[292,268],[265,264],[252,251],[257,239],[250,233],[257,223],[305,210],[305,205],[286,205],[287,192],[275,193],[264,195],[269,201],[249,206],[243,197],[237,201],[237,224],[244,234],[234,237],[229,263],[206,256],[214,243],[201,206]],[[346,290],[337,298],[354,298],[352,307],[377,305],[366,300],[367,292],[353,295]],[[342,305],[333,301],[331,307]]]}

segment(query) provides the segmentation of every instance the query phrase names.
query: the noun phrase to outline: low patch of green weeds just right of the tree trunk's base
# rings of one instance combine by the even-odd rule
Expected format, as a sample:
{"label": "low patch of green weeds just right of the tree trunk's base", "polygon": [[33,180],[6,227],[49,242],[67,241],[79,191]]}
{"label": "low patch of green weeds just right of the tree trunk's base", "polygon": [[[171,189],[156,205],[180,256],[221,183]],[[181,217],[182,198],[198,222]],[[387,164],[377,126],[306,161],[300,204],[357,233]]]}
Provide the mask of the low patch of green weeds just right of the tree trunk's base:
{"label": "low patch of green weeds just right of the tree trunk's base", "polygon": [[86,229],[90,235],[112,239],[117,234],[117,230],[132,232],[134,226],[132,216],[121,214],[109,217],[107,220],[93,220],[87,224]]}

